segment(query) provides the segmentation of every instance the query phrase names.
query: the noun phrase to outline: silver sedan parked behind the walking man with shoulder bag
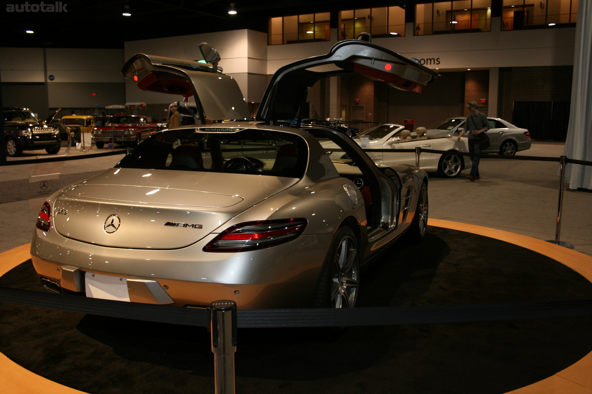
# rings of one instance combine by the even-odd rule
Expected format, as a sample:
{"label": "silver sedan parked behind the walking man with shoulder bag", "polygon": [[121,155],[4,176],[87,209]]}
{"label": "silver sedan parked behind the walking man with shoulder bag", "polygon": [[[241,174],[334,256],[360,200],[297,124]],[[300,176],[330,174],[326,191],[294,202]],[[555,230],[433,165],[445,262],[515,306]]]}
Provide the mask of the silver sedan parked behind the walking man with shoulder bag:
{"label": "silver sedan parked behind the walking man with shoulder bag", "polygon": [[[530,149],[530,132],[527,129],[514,126],[509,121],[488,117],[490,129],[487,136],[491,146],[483,149],[481,153],[499,153],[500,155],[513,156],[520,150]],[[459,116],[449,118],[430,130],[426,134],[452,134],[459,135],[464,126],[466,117]]]}

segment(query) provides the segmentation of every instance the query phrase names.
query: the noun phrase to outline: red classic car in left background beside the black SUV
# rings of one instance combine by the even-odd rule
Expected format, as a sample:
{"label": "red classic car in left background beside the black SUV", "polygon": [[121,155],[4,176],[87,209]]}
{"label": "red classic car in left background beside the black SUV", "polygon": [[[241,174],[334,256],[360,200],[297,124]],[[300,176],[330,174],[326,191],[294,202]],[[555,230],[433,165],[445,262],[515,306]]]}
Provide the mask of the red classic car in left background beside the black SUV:
{"label": "red classic car in left background beside the black SUV", "polygon": [[92,139],[96,148],[103,148],[105,142],[129,143],[138,145],[150,134],[159,130],[159,126],[152,117],[140,115],[114,115],[107,123],[92,130]]}

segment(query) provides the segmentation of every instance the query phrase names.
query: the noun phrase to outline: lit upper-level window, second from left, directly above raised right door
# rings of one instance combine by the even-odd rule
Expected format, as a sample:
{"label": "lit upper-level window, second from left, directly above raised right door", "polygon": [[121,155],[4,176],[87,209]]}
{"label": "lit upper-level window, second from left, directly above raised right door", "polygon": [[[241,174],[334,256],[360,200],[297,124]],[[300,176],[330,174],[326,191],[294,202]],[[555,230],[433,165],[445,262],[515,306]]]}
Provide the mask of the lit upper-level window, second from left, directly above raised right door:
{"label": "lit upper-level window, second from left, directly above raised right door", "polygon": [[339,39],[355,39],[360,33],[370,33],[372,37],[404,36],[405,10],[379,7],[339,12]]}

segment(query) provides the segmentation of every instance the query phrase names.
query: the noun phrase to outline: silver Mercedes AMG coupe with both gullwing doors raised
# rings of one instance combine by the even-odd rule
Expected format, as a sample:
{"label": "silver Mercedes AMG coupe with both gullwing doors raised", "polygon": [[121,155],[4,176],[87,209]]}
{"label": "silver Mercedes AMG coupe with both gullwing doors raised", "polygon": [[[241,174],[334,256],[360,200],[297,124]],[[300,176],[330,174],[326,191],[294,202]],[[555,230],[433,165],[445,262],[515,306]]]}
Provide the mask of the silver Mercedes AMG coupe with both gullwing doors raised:
{"label": "silver Mercedes AMG coupe with both gullwing doors raised", "polygon": [[[280,68],[252,121],[215,50],[202,53],[208,63],[139,54],[124,65],[140,89],[195,97],[196,124],[157,132],[115,168],[47,198],[31,245],[41,283],[186,307],[353,307],[363,263],[401,235],[422,239],[426,173],[376,165],[329,127],[278,124],[298,118],[320,78],[361,73],[420,91],[437,73],[340,41]],[[327,140],[348,159],[331,159]]]}

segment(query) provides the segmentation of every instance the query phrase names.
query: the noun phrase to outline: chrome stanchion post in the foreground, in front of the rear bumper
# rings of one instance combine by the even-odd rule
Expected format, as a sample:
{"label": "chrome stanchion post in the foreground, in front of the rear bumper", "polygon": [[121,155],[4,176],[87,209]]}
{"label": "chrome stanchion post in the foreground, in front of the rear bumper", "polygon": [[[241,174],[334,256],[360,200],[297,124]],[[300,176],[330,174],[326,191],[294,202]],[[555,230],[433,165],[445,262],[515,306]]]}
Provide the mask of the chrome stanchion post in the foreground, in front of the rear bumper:
{"label": "chrome stanchion post in the foreground, in front of the rear bumper", "polygon": [[211,303],[210,311],[215,394],[234,394],[236,303],[230,300],[215,301]]}

